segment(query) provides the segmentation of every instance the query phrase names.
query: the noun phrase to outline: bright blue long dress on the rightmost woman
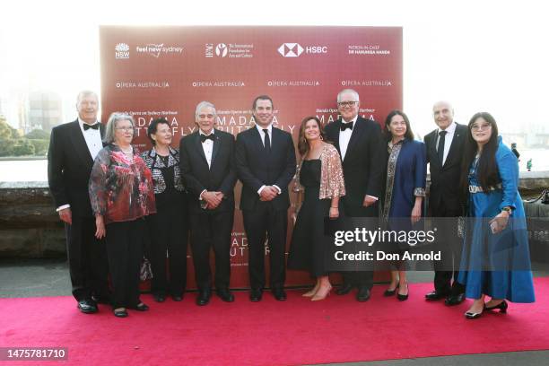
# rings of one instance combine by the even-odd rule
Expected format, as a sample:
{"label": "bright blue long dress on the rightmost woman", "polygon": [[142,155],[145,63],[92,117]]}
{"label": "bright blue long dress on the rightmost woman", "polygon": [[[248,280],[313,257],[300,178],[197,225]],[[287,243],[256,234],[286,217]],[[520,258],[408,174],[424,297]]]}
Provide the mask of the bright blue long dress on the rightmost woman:
{"label": "bright blue long dress on the rightmost woman", "polygon": [[[494,299],[534,302],[526,219],[518,193],[518,161],[501,143],[501,137],[495,160],[501,186],[469,194],[471,219],[467,221],[458,281],[466,285],[466,297],[470,299],[480,299],[484,293]],[[476,161],[471,164],[469,185],[478,187],[476,165]],[[513,209],[507,227],[492,234],[489,222],[505,206]]]}

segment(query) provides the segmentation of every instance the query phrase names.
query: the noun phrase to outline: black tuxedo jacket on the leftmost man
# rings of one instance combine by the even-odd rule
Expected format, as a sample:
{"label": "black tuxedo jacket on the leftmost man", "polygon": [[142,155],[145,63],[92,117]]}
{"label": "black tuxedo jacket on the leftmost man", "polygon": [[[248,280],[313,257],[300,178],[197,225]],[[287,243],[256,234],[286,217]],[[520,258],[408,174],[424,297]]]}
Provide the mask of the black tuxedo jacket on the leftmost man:
{"label": "black tuxedo jacket on the leftmost man", "polygon": [[[104,126],[100,124],[103,137]],[[92,217],[88,182],[93,159],[78,119],[51,130],[48,148],[48,185],[56,207],[71,205],[79,217]]]}

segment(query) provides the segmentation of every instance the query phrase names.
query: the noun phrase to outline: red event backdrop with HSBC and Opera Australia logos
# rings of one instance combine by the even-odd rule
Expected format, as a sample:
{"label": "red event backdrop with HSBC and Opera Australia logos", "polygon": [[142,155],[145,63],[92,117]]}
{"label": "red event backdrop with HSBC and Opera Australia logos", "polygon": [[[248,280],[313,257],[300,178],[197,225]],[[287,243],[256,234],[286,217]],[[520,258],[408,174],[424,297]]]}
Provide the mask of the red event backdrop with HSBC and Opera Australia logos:
{"label": "red event backdrop with HSBC and Opera Australia logos", "polygon": [[[217,109],[217,128],[238,135],[254,126],[252,100],[274,100],[274,126],[297,144],[301,119],[338,118],[336,95],[360,93],[360,115],[383,123],[402,108],[400,27],[100,27],[102,120],[126,112],[137,122],[135,144],[148,149],[146,127],[168,118],[173,145],[196,131],[202,100]],[[240,201],[237,184],[237,207]],[[292,197],[295,198],[295,197]],[[292,234],[289,210],[288,246]],[[248,287],[248,248],[237,208],[231,242],[231,287]],[[267,254],[267,250],[266,250]],[[188,286],[194,288],[192,260]],[[287,285],[309,283],[289,271]]]}

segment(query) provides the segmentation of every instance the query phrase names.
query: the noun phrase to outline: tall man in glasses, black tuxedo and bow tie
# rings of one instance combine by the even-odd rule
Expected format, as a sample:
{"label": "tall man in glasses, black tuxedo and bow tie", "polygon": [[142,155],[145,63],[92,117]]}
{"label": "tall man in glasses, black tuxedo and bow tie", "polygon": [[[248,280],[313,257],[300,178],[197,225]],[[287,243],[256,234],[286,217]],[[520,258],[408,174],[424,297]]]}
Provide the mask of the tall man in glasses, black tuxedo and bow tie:
{"label": "tall man in glasses, black tuxedo and bow tie", "polygon": [[[327,139],[335,144],[343,161],[346,195],[342,197],[344,215],[377,217],[383,166],[379,164],[381,128],[369,119],[359,117],[358,92],[345,89],[337,94],[341,118],[326,126]],[[341,205],[340,205],[341,206]],[[358,288],[357,301],[370,299],[373,271],[347,271],[344,284],[335,293],[344,295]]]}

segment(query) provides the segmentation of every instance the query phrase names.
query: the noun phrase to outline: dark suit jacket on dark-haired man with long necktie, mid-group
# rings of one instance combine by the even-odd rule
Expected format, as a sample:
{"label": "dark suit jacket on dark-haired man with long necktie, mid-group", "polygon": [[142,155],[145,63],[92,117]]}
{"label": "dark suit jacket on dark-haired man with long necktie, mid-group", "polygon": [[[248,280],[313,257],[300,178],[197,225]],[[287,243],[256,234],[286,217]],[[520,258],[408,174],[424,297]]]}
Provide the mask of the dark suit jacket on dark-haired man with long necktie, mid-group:
{"label": "dark suit jacket on dark-haired man with long necktie, mid-group", "polygon": [[290,207],[288,185],[296,170],[292,135],[273,126],[271,152],[267,153],[256,126],[241,132],[236,140],[237,173],[242,182],[240,209],[253,210],[261,186],[277,186],[282,193],[271,201],[276,210]]}

